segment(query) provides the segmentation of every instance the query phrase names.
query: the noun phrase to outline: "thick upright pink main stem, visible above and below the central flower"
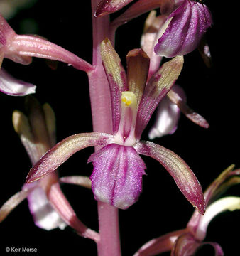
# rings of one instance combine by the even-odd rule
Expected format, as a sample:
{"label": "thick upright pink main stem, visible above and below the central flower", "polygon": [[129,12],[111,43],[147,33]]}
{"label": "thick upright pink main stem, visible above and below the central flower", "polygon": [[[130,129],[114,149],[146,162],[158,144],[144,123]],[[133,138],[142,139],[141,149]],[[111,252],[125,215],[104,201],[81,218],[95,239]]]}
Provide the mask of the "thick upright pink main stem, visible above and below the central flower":
{"label": "thick upright pink main stem, visible above and below the central flower", "polygon": [[[94,17],[98,0],[92,1],[93,56],[94,70],[88,73],[89,94],[92,107],[92,123],[94,132],[112,133],[111,100],[107,77],[102,66],[100,43],[109,33],[109,16]],[[112,37],[112,36],[111,36]],[[110,38],[111,40],[112,38]],[[99,256],[120,256],[119,214],[118,209],[106,203],[98,202],[99,235],[97,252]]]}

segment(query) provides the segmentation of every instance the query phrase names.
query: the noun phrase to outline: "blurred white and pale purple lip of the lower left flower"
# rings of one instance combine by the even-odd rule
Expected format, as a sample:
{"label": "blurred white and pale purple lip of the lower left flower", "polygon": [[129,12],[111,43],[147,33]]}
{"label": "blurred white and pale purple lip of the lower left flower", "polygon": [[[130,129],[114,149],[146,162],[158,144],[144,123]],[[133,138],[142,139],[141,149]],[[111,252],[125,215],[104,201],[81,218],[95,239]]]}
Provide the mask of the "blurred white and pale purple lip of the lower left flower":
{"label": "blurred white and pale purple lip of the lower left flower", "polygon": [[62,221],[60,215],[53,209],[53,206],[50,205],[43,188],[37,187],[29,194],[28,206],[31,215],[33,215],[34,223],[39,228],[45,230],[65,228],[66,223]]}

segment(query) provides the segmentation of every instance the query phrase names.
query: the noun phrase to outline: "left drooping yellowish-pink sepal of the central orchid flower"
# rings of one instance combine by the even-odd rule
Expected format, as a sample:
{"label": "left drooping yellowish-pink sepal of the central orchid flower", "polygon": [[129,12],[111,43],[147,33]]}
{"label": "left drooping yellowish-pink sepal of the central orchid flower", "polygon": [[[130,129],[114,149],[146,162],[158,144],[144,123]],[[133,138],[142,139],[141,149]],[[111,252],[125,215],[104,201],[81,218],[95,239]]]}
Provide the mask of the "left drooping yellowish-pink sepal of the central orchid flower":
{"label": "left drooping yellowish-pink sepal of the central orchid flower", "polygon": [[86,148],[87,146],[101,145],[105,146],[111,141],[110,134],[100,132],[92,132],[85,134],[75,134],[62,142],[59,142],[50,149],[29,171],[26,178],[27,183],[37,181],[39,178],[50,174],[58,168],[62,163],[75,154],[77,151]]}

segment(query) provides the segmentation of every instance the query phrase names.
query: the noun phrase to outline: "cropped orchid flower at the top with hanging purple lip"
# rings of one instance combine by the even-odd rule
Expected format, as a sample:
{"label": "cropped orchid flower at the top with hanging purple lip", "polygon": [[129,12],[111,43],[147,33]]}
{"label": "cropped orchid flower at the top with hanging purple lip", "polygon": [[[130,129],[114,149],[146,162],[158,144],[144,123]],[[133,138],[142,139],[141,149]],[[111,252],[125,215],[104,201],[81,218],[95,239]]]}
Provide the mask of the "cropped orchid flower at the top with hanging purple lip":
{"label": "cropped orchid flower at the top with hanging purple lip", "polygon": [[[132,0],[102,0],[96,16],[104,16],[119,11]],[[160,7],[160,28],[155,53],[172,58],[195,50],[207,28],[212,25],[212,17],[206,5],[194,0],[138,0],[129,9],[112,21],[112,26],[123,23],[147,11]]]}

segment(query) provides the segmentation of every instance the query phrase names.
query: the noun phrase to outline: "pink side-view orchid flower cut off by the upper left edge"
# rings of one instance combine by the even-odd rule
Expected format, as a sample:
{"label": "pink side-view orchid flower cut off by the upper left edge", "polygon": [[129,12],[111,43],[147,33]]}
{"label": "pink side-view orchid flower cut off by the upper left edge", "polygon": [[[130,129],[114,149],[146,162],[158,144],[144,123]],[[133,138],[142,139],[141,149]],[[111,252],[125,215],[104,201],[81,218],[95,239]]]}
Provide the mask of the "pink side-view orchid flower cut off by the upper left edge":
{"label": "pink side-view orchid flower cut off by the upper left edge", "polygon": [[[28,65],[32,57],[59,60],[85,72],[92,70],[92,65],[54,43],[39,36],[17,35],[0,14],[0,68],[4,58]],[[35,92],[35,85],[16,81],[5,71],[1,71],[0,77],[0,90],[7,95],[28,95]]]}

